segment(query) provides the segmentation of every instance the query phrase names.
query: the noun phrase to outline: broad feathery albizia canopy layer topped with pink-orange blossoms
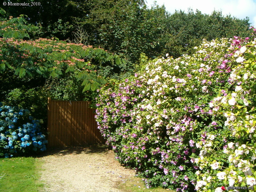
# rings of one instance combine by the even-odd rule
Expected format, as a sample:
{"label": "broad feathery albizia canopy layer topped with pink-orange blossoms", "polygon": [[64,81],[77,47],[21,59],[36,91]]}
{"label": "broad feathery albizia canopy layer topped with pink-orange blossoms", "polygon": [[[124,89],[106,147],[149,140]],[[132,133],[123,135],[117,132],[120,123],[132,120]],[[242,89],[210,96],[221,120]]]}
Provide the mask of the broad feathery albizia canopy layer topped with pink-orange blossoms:
{"label": "broad feathery albizia canopy layer topped with pink-orange blossoms", "polygon": [[0,38],[0,47],[0,74],[13,72],[20,78],[76,76],[83,80],[84,90],[96,90],[105,83],[95,70],[96,65],[124,63],[118,55],[101,48],[54,39]]}

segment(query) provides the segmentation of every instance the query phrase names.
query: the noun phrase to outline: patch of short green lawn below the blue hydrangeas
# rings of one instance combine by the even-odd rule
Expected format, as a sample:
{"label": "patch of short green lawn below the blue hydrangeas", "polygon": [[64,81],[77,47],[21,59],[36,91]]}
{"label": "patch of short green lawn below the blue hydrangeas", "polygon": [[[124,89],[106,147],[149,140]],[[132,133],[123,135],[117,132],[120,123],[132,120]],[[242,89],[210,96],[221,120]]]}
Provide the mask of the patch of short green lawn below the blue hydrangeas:
{"label": "patch of short green lawn below the blue hydrangeas", "polygon": [[41,163],[34,157],[0,158],[0,191],[42,191],[40,168]]}

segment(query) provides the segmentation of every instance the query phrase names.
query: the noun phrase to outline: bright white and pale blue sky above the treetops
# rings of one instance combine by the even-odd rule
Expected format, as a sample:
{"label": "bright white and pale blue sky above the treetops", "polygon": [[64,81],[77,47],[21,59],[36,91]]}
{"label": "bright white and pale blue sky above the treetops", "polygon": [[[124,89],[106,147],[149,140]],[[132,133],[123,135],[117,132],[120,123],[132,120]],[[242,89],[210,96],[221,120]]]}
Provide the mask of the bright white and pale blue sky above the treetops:
{"label": "bright white and pale blue sky above the treetops", "polygon": [[[146,0],[151,7],[155,0]],[[256,27],[256,0],[156,0],[156,4],[164,5],[169,13],[175,10],[186,11],[188,8],[202,13],[211,14],[212,11],[222,11],[223,15],[244,19],[250,18],[251,26]]]}

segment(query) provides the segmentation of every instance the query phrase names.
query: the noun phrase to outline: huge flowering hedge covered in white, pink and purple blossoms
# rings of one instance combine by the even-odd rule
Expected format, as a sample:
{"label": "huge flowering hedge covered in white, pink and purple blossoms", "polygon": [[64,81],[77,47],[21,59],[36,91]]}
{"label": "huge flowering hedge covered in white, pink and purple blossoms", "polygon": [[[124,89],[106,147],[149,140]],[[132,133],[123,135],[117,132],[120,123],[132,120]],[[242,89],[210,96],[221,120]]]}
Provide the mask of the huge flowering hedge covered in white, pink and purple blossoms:
{"label": "huge flowering hedge covered in white, pink and purple blossoms", "polygon": [[96,120],[116,158],[148,187],[256,185],[254,38],[203,41],[192,56],[141,63],[102,87]]}

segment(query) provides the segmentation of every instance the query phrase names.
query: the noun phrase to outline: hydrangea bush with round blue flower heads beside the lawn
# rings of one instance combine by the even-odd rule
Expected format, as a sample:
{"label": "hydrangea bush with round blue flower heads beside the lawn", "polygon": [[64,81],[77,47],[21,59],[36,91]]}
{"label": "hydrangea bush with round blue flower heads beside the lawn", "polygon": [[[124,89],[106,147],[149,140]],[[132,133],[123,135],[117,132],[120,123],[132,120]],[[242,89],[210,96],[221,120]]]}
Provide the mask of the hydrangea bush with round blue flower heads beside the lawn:
{"label": "hydrangea bush with round blue flower heads beside the lawn", "polygon": [[40,132],[40,121],[30,111],[0,103],[0,156],[45,151],[47,140]]}

